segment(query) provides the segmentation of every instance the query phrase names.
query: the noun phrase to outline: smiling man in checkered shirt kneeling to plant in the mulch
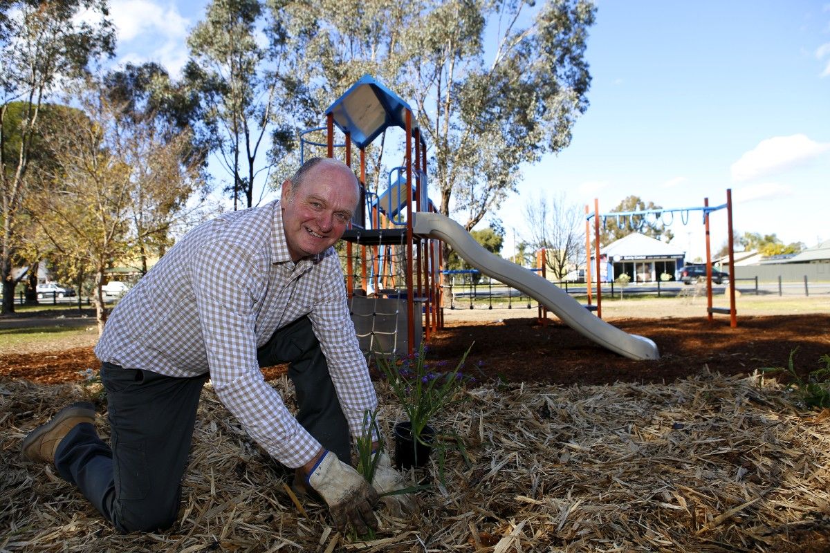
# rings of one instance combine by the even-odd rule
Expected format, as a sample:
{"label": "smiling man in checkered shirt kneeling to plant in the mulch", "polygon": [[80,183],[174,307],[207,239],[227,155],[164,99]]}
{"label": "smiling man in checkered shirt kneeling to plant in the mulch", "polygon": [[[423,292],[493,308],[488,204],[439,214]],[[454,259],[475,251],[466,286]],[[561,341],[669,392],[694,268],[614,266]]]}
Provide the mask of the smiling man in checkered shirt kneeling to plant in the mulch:
{"label": "smiling man in checkered shirt kneeling to plant in the mulch", "polygon": [[[247,433],[313,488],[334,522],[376,528],[378,493],[403,488],[386,454],[372,485],[350,465],[351,436],[377,397],[349,317],[334,252],[359,199],[349,167],[304,163],[266,206],[233,211],[183,237],[116,306],[95,347],[110,445],[89,403],[66,407],[23,442],[54,463],[120,531],[158,531],[178,517],[202,386]],[[290,363],[299,412],[261,366]],[[408,495],[383,497],[394,514]]]}

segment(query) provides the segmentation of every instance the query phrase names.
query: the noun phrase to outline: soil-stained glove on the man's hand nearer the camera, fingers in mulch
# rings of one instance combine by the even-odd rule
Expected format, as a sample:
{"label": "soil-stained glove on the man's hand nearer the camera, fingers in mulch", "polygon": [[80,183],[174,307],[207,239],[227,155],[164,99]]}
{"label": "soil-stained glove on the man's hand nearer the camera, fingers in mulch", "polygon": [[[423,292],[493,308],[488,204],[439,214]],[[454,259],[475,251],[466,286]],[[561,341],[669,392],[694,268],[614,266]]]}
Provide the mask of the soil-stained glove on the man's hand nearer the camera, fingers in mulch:
{"label": "soil-stained glove on the man's hand nearer the camera, fingers in mulch", "polygon": [[367,525],[378,529],[378,521],[372,512],[378,494],[337,455],[326,451],[306,477],[306,482],[323,497],[340,531],[346,530],[347,522],[359,536],[369,531]]}

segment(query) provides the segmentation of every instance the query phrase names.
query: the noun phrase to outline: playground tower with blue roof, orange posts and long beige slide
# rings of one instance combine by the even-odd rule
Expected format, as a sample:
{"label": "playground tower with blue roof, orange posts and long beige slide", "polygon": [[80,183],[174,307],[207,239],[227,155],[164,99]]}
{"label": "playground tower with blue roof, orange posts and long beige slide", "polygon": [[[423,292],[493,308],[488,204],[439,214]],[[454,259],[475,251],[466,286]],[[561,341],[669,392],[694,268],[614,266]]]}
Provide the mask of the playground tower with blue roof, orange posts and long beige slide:
{"label": "playground tower with blue roof, orange posts and long beige slide", "polygon": [[[442,248],[447,242],[467,263],[535,298],[575,330],[632,359],[657,359],[657,346],[594,317],[582,304],[547,279],[491,254],[455,221],[437,213],[427,197],[427,143],[409,105],[391,90],[364,75],[325,111],[325,127],[300,137],[306,146],[325,147],[352,167],[359,151],[359,208],[344,232],[346,289],[360,346],[370,355],[413,354],[422,338],[443,327]],[[344,135],[335,143],[334,128]],[[366,188],[366,148],[384,130],[404,131],[403,163],[388,175],[388,188]],[[325,142],[305,138],[325,133]],[[404,332],[405,328],[405,332]]]}

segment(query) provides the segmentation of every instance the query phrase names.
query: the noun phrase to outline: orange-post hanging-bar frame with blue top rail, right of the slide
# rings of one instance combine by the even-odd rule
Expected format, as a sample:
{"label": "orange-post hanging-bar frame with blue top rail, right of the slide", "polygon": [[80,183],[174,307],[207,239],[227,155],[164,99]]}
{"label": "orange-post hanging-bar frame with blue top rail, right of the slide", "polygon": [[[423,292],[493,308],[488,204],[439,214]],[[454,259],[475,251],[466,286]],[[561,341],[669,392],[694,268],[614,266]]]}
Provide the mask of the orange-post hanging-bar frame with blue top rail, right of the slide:
{"label": "orange-post hanging-bar frame with blue top rail, right of the slide", "polygon": [[[720,308],[713,306],[713,298],[712,298],[712,256],[711,256],[711,244],[710,244],[710,234],[709,234],[709,216],[710,213],[714,211],[719,211],[721,209],[726,210],[726,226],[729,232],[729,292],[730,292],[730,307],[728,308]],[[585,206],[585,259],[588,260],[588,263],[585,264],[585,281],[586,286],[588,289],[588,306],[591,310],[597,313],[598,318],[602,318],[603,316],[603,292],[602,292],[602,279],[597,278],[597,304],[593,306],[592,298],[591,298],[591,279],[592,279],[592,267],[593,264],[596,269],[596,274],[601,274],[600,266],[602,264],[602,255],[600,254],[600,245],[599,245],[599,221],[602,218],[603,221],[606,220],[608,217],[617,217],[618,221],[628,217],[630,221],[633,221],[633,216],[642,216],[643,218],[647,216],[654,216],[656,221],[661,221],[662,216],[664,213],[671,213],[672,220],[674,219],[675,213],[681,213],[681,221],[688,221],[690,211],[702,211],[703,213],[703,224],[706,229],[706,313],[707,317],[710,321],[713,320],[714,313],[723,313],[730,316],[730,327],[735,328],[738,326],[737,320],[737,313],[735,311],[735,237],[732,232],[732,190],[730,188],[726,189],[726,203],[720,206],[710,206],[709,205],[709,198],[706,197],[703,199],[703,206],[696,206],[696,207],[684,207],[684,208],[668,208],[668,209],[647,209],[647,210],[640,210],[640,211],[612,211],[609,213],[599,213],[599,201],[598,199],[594,198],[593,200],[593,213],[589,211],[588,206]],[[685,214],[685,216],[683,215]],[[593,255],[593,263],[591,263],[592,256],[591,256],[591,232],[590,232],[590,223],[593,219],[593,245],[594,245],[594,252]],[[641,220],[641,222],[644,219]]]}

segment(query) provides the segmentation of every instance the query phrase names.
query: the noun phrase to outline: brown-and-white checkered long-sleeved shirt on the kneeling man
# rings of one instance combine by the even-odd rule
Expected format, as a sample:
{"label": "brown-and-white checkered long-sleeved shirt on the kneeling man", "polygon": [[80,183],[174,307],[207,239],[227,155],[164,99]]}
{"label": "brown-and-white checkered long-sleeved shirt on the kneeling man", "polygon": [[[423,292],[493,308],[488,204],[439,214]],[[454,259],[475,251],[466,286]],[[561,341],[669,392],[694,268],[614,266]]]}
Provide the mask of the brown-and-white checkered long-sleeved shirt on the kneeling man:
{"label": "brown-and-white checkered long-sleeved shirt on the kneeling man", "polygon": [[210,373],[253,439],[288,467],[320,449],[267,385],[256,349],[308,315],[352,434],[377,397],[349,317],[334,249],[291,261],[279,201],[191,230],[121,299],[95,347],[100,361],[167,376]]}

